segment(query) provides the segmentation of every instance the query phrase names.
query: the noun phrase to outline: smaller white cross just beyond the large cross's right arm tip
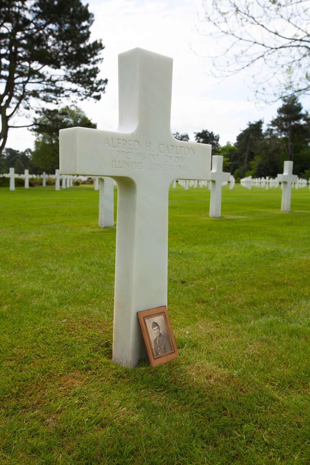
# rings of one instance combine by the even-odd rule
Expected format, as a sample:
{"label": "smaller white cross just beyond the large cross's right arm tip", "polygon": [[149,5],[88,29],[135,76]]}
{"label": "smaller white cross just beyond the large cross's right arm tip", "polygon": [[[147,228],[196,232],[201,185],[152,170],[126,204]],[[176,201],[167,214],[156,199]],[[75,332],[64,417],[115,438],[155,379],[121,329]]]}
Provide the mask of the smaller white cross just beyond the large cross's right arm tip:
{"label": "smaller white cross just beyond the large cross's right arm tip", "polygon": [[223,172],[223,156],[212,155],[211,179],[211,197],[210,197],[210,216],[219,218],[221,216],[222,204],[222,181],[229,181],[230,173]]}

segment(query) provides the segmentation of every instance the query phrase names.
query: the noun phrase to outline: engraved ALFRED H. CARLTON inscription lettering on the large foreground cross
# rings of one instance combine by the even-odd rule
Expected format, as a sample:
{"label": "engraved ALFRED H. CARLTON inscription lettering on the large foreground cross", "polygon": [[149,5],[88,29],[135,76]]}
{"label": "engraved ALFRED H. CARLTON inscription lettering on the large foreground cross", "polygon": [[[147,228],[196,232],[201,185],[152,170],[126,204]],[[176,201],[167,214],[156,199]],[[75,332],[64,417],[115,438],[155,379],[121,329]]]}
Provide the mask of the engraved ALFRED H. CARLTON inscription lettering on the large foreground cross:
{"label": "engraved ALFRED H. CARLTON inscription lettering on the large foreground cross", "polygon": [[184,144],[155,146],[152,142],[106,137],[103,153],[107,151],[112,155],[113,170],[189,173],[187,160],[195,155],[196,148]]}

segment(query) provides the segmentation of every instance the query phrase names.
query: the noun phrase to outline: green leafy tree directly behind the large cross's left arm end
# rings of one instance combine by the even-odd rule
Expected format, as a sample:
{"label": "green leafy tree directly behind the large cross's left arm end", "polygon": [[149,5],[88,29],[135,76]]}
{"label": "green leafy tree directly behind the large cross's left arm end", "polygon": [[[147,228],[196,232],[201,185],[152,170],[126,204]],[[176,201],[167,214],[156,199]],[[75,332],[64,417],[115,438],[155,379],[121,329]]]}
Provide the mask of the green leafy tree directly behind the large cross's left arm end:
{"label": "green leafy tree directly behind the large cross's left arm end", "polygon": [[94,129],[97,127],[77,106],[65,106],[60,110],[43,108],[37,110],[37,114],[31,129],[37,135],[32,158],[37,166],[49,173],[59,168],[59,129],[76,126]]}

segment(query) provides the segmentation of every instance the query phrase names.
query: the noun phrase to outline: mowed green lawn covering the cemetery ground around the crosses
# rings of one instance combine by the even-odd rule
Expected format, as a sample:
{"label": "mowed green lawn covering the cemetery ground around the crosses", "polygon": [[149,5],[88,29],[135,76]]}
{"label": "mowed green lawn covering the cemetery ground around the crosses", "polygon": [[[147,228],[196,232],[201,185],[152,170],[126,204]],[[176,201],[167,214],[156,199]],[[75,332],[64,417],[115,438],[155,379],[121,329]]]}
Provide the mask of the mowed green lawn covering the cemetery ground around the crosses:
{"label": "mowed green lawn covering the cemetery ground around the crosses", "polygon": [[220,219],[209,201],[170,189],[180,357],[132,370],[99,193],[0,189],[1,464],[310,464],[310,190],[290,213],[281,189],[224,186]]}

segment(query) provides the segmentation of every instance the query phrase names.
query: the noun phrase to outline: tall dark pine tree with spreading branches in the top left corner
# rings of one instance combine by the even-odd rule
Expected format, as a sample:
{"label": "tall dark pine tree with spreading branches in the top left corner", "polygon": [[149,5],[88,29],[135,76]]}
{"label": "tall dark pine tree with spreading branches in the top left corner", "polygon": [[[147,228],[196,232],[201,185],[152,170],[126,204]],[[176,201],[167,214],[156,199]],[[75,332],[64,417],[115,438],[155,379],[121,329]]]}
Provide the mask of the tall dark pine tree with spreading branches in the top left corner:
{"label": "tall dark pine tree with spreading branches in the top left corner", "polygon": [[99,100],[101,40],[89,42],[93,15],[80,0],[2,0],[0,6],[0,154],[9,120],[40,101]]}

